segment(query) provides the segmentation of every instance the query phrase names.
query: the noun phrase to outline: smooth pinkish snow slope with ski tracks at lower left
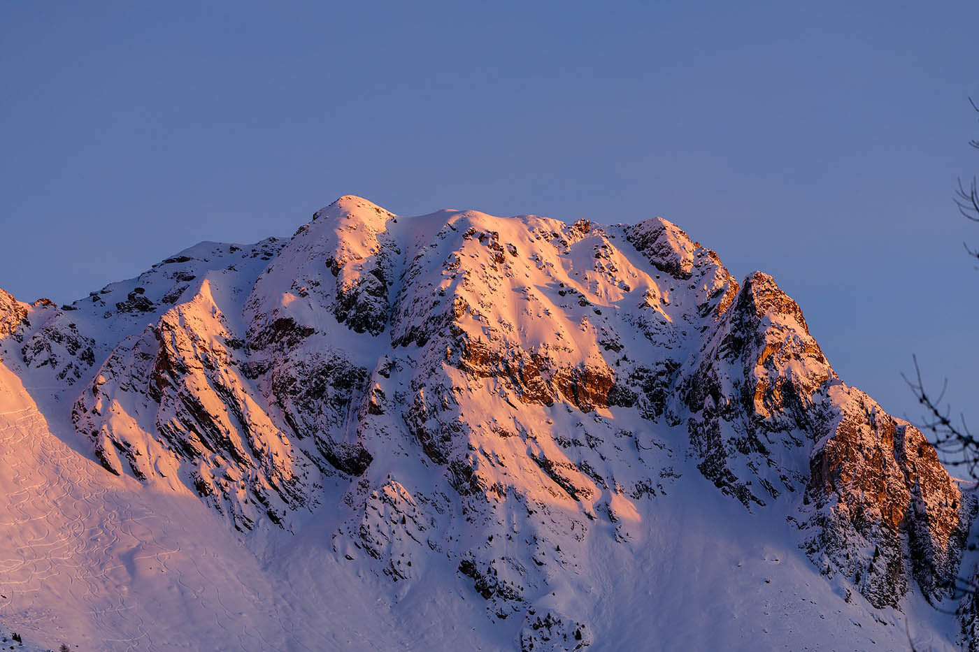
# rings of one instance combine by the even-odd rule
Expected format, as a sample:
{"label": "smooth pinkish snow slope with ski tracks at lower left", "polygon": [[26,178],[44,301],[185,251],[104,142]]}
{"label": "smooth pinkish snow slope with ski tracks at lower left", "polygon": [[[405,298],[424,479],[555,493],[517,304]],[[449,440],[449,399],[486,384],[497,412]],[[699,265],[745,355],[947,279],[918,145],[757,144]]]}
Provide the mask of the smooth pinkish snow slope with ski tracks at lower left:
{"label": "smooth pinkish snow slope with ski tracks at lower left", "polygon": [[303,608],[196,497],[159,496],[178,507],[160,513],[121,485],[35,407],[0,412],[0,623],[50,648],[330,649],[316,641],[331,606]]}

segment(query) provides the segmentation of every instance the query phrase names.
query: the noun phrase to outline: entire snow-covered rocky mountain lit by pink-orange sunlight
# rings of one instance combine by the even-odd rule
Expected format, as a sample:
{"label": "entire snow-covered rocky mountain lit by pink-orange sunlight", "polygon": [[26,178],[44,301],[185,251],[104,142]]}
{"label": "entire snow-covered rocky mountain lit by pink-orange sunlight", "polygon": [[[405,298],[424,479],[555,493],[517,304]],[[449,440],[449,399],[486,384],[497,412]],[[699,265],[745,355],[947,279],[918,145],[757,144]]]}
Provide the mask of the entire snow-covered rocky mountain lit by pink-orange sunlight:
{"label": "entire snow-covered rocky mountain lit by pink-orange sunlight", "polygon": [[343,197],[0,291],[0,361],[0,623],[40,645],[979,645],[971,486],[661,218]]}

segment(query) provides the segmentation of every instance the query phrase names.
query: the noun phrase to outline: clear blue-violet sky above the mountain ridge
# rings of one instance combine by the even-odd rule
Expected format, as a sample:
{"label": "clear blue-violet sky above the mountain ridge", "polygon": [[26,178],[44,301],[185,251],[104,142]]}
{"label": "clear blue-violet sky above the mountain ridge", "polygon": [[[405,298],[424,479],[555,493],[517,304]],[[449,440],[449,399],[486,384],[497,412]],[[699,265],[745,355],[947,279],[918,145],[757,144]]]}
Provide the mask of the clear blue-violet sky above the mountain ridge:
{"label": "clear blue-violet sky above the mountain ridge", "polygon": [[975,404],[979,3],[0,5],[0,287],[59,303],[345,194],[662,215],[897,415]]}

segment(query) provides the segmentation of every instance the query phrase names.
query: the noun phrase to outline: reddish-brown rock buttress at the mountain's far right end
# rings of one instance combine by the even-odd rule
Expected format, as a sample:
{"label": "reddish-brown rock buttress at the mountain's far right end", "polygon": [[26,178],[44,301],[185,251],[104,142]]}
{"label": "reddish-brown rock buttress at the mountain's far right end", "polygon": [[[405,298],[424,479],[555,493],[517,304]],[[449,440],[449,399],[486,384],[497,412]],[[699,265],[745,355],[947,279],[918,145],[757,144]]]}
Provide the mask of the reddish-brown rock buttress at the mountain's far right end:
{"label": "reddish-brown rock buttress at the mountain's far right end", "polygon": [[832,393],[846,402],[812,457],[813,543],[854,576],[874,606],[896,606],[909,578],[928,597],[950,594],[974,499],[962,495],[913,426],[857,390]]}

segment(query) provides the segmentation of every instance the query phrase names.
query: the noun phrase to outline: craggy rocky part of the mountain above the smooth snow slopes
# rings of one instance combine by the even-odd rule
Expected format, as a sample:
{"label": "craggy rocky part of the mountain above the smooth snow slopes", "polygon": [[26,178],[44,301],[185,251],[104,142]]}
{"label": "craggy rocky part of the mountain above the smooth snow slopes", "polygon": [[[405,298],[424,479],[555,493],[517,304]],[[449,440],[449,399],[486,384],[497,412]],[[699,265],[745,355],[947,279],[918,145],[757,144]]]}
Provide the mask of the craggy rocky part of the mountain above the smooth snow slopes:
{"label": "craggy rocky part of the mountain above the smooth snow slopes", "polygon": [[63,309],[0,294],[3,337],[81,381],[72,419],[108,472],[243,532],[292,530],[340,487],[339,558],[392,582],[448,559],[528,650],[601,646],[547,596],[594,536],[640,545],[683,473],[787,510],[878,608],[945,595],[975,511],[770,276],[737,283],[660,218],[345,197],[288,241],[202,243]]}

